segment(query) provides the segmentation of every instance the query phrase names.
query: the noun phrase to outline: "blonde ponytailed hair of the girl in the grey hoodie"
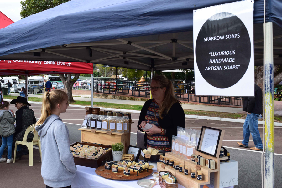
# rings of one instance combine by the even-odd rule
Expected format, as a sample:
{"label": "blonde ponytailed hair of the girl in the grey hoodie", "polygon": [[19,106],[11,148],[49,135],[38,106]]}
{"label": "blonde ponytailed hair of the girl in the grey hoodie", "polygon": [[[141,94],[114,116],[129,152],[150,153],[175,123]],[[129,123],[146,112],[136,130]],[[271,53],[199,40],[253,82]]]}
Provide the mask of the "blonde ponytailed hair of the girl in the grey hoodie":
{"label": "blonde ponytailed hair of the girl in the grey hoodie", "polygon": [[63,101],[68,99],[68,95],[64,90],[57,89],[50,92],[45,92],[42,98],[41,116],[36,122],[39,126],[44,123],[44,121],[52,115],[52,111],[55,109],[57,104],[61,104]]}

